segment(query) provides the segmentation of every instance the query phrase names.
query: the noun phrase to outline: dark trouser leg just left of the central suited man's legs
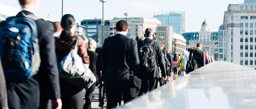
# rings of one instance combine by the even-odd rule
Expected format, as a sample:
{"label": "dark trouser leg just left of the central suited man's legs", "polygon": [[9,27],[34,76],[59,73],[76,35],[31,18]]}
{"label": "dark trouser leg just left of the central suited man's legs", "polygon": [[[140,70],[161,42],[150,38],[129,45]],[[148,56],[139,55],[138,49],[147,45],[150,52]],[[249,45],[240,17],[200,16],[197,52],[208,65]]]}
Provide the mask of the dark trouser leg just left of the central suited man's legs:
{"label": "dark trouser leg just left of the central suited man's legs", "polygon": [[107,101],[107,94],[106,94],[106,87],[103,86],[103,78],[99,80],[99,103],[101,107],[106,106],[106,101]]}

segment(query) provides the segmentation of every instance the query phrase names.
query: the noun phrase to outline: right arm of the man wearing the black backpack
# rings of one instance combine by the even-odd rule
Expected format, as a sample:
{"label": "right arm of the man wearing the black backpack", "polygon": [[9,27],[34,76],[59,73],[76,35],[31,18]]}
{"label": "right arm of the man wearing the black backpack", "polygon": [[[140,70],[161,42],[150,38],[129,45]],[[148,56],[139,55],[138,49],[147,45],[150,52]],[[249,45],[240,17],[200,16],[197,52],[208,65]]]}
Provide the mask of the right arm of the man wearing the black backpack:
{"label": "right arm of the man wearing the black backpack", "polygon": [[161,69],[162,76],[166,76],[166,69],[165,69],[165,59],[163,58],[163,53],[161,49],[161,44],[158,44],[158,50],[157,50],[157,58],[158,58],[158,64]]}

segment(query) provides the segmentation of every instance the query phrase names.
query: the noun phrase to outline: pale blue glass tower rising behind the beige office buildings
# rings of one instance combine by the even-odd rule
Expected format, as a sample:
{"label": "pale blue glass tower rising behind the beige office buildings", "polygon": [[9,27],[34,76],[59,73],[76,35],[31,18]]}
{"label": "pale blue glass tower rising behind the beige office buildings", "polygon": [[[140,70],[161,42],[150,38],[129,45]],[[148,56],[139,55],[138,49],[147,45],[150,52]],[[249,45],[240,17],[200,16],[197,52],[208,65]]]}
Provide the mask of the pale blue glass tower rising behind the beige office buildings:
{"label": "pale blue glass tower rising behind the beige office buildings", "polygon": [[161,21],[161,25],[170,25],[173,32],[179,35],[185,33],[185,12],[184,11],[161,11],[154,12],[154,18]]}

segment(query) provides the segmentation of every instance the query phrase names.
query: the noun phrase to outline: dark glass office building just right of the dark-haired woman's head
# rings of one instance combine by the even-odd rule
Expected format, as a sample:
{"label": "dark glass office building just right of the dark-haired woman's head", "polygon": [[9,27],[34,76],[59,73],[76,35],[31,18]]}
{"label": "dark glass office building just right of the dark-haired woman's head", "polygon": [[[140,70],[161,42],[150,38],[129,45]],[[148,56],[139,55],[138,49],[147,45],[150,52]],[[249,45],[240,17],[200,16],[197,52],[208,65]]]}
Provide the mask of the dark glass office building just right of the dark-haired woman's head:
{"label": "dark glass office building just right of the dark-haired woman's head", "polygon": [[[109,25],[109,20],[104,20],[105,25]],[[84,36],[87,36],[87,38],[89,40],[94,39],[97,43],[99,41],[99,36],[98,35],[98,27],[101,26],[102,23],[102,19],[99,19],[98,17],[95,17],[94,19],[91,20],[83,20],[81,21],[81,25],[83,25],[84,28],[84,32],[86,32],[86,34]],[[105,27],[104,25],[104,27]]]}

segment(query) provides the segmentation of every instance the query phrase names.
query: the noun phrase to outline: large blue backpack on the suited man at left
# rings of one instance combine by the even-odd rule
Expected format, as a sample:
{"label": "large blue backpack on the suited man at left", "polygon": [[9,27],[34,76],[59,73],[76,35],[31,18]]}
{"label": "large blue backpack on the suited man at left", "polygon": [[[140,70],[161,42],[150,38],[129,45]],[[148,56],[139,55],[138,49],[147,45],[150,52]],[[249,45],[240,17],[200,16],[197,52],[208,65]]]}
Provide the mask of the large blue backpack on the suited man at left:
{"label": "large blue backpack on the suited man at left", "polygon": [[9,17],[0,24],[0,56],[7,81],[24,81],[37,74],[41,60],[34,15]]}

